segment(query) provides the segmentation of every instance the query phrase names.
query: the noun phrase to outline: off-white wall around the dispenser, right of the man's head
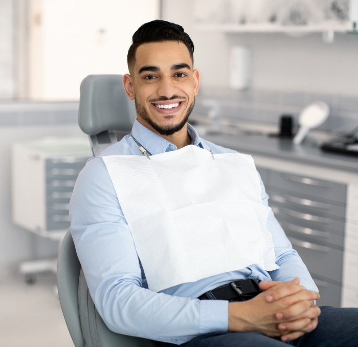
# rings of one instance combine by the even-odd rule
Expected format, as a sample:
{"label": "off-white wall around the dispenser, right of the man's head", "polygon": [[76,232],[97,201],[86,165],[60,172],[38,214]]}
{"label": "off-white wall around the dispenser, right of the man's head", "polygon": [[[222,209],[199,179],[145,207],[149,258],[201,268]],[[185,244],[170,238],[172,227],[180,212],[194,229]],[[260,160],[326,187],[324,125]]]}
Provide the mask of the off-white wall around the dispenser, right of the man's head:
{"label": "off-white wall around the dispenser, right of the man's head", "polygon": [[[216,0],[208,0],[211,2]],[[223,2],[225,4],[225,2]],[[251,87],[317,94],[358,94],[358,34],[336,34],[332,43],[321,34],[299,38],[285,34],[215,34],[200,32],[194,25],[191,0],[163,0],[163,19],[181,24],[195,45],[195,66],[202,85],[228,87],[229,51],[245,45],[252,52]]]}

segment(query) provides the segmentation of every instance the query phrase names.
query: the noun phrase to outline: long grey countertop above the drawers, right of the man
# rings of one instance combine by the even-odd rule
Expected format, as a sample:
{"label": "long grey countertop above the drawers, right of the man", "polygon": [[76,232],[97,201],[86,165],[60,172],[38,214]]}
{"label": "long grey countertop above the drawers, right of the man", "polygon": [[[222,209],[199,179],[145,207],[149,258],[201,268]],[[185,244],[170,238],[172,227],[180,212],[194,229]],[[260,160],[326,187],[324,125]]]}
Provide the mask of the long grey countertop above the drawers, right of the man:
{"label": "long grey countertop above the drawers, right of the man", "polygon": [[316,142],[310,141],[309,137],[297,146],[291,139],[240,131],[237,134],[204,132],[202,136],[217,145],[248,153],[254,157],[256,154],[358,173],[358,156],[322,151]]}

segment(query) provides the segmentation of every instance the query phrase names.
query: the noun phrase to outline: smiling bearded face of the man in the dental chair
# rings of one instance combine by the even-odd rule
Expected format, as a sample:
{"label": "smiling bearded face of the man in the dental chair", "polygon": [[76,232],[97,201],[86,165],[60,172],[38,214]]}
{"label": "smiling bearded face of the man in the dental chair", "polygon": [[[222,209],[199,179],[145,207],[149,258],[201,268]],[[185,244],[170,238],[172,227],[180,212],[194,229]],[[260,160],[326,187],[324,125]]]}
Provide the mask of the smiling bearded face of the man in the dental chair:
{"label": "smiling bearded face of the man in the dental chair", "polygon": [[194,107],[199,74],[189,51],[177,41],[140,45],[131,76],[124,83],[135,99],[138,121],[162,135],[184,129]]}

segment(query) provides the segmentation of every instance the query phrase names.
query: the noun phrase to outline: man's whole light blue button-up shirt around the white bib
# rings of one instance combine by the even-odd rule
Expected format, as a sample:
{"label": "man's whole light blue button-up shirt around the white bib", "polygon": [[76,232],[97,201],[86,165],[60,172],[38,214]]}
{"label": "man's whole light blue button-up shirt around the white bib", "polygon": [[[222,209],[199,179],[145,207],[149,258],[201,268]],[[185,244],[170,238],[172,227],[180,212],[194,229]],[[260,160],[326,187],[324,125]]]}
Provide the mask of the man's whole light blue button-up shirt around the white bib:
{"label": "man's whole light blue button-up shirt around the white bib", "polygon": [[[203,140],[189,124],[188,133],[192,145],[211,149],[214,154],[235,152]],[[151,155],[177,149],[138,121],[133,125],[132,134]],[[130,135],[87,161],[76,181],[70,204],[78,258],[95,306],[110,330],[181,344],[198,334],[228,330],[228,302],[197,299],[220,285],[247,278],[289,281],[300,277],[301,285],[318,291],[272,212],[267,219],[267,230],[272,234],[279,269],[267,272],[252,265],[159,293],[149,290],[120,202],[101,158],[123,154],[142,155]],[[138,184],[150,182],[143,180]],[[269,197],[262,181],[261,197],[267,205]]]}

